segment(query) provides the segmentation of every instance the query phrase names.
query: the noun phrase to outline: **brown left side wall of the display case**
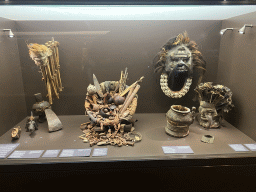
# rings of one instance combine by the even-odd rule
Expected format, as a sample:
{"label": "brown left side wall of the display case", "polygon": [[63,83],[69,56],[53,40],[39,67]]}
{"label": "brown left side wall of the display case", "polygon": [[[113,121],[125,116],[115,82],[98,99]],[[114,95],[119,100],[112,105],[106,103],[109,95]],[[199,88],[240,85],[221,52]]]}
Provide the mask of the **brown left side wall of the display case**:
{"label": "brown left side wall of the display case", "polygon": [[[0,29],[12,29],[15,21],[0,18]],[[17,38],[0,32],[0,135],[27,116]]]}

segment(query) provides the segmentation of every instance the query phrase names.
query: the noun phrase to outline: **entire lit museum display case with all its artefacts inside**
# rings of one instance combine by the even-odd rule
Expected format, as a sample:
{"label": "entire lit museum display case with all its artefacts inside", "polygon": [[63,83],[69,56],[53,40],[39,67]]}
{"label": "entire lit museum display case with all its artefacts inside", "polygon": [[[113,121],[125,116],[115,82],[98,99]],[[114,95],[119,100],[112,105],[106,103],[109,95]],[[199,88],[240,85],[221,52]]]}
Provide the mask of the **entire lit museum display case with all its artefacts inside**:
{"label": "entire lit museum display case with all its artefacts inside", "polygon": [[255,170],[255,18],[256,5],[0,4],[2,173]]}

